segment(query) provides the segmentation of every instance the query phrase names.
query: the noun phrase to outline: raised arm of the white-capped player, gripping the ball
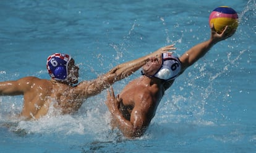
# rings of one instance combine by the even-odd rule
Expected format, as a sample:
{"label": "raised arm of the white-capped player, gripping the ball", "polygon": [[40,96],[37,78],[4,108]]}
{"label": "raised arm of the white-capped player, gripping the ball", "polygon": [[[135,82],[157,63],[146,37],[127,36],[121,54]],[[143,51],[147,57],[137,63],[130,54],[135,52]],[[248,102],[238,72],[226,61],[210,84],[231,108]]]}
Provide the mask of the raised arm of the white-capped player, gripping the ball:
{"label": "raised arm of the white-capped player, gripping the ball", "polygon": [[190,48],[187,52],[185,52],[179,59],[181,60],[182,64],[182,72],[186,70],[187,67],[190,65],[194,64],[198,59],[203,57],[209,50],[210,48],[215,45],[216,43],[229,38],[234,34],[233,33],[228,34],[227,30],[228,26],[225,27],[223,32],[221,34],[216,33],[216,31],[213,28],[213,25],[211,25],[211,37],[207,41],[197,44],[194,47]]}

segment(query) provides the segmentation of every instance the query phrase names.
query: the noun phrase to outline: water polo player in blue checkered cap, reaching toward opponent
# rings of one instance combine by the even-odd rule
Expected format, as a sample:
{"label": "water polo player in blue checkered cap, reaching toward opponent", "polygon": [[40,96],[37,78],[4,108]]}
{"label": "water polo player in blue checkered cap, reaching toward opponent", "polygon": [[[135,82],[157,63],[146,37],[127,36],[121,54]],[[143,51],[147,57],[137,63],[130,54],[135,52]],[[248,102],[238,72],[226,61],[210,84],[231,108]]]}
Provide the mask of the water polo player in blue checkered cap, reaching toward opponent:
{"label": "water polo player in blue checkered cap, reaching toward opponent", "polygon": [[95,80],[78,83],[79,67],[67,54],[56,53],[48,57],[46,67],[51,80],[37,77],[24,77],[15,81],[0,82],[0,96],[23,95],[23,109],[20,114],[25,119],[37,119],[46,114],[51,106],[60,109],[62,114],[76,112],[85,99],[101,93],[104,89],[128,77],[151,56],[169,51],[173,45],[158,49],[148,56],[117,65]]}

